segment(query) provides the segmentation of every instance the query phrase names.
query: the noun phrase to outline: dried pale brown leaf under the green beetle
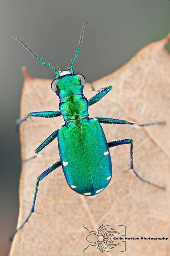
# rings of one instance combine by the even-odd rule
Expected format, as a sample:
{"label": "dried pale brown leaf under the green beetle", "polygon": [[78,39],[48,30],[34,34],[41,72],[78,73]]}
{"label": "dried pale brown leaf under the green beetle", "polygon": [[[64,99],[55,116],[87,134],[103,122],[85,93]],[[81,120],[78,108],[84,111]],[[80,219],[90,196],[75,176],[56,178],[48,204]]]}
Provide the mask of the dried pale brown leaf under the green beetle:
{"label": "dried pale brown leaf under the green beetle", "polygon": [[[59,168],[40,182],[35,206],[40,214],[34,213],[15,236],[10,256],[82,255],[87,245],[87,232],[82,224],[90,230],[101,224],[126,225],[129,237],[168,236],[170,56],[164,47],[168,40],[167,37],[146,46],[125,66],[93,82],[95,89],[113,85],[113,90],[90,107],[90,117],[122,118],[139,123],[166,121],[166,126],[141,129],[103,125],[107,141],[133,139],[135,169],[146,179],[165,185],[166,191],[141,182],[132,171],[125,174],[129,168],[129,145],[110,149],[113,178],[106,190],[94,198],[73,192]],[[51,80],[31,78],[25,69],[23,73],[21,118],[33,110],[55,110],[59,101],[51,90]],[[90,84],[84,90],[88,98],[94,94]],[[31,157],[35,148],[62,124],[62,117],[32,118],[22,124],[21,158]],[[22,164],[18,227],[29,214],[37,176],[59,160],[57,139],[43,152],[45,155]],[[167,241],[127,241],[125,255],[166,256],[167,246]],[[100,253],[96,246],[86,251],[87,256]]]}

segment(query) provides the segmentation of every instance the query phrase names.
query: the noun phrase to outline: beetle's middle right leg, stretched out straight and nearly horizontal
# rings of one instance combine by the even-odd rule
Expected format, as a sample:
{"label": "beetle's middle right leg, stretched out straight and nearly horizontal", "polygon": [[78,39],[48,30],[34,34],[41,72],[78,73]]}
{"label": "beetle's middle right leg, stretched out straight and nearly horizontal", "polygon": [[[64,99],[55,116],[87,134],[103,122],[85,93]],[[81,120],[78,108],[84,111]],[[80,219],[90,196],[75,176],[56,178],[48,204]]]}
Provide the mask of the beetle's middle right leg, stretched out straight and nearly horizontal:
{"label": "beetle's middle right leg, stretched out straight and nearly horizontal", "polygon": [[96,119],[99,120],[100,123],[102,124],[130,124],[135,127],[143,127],[143,126],[151,126],[155,124],[165,124],[165,122],[155,122],[155,123],[150,123],[150,124],[135,124],[132,122],[127,122],[125,120],[120,120],[120,119],[113,119],[113,118],[106,118],[106,117],[95,117]]}

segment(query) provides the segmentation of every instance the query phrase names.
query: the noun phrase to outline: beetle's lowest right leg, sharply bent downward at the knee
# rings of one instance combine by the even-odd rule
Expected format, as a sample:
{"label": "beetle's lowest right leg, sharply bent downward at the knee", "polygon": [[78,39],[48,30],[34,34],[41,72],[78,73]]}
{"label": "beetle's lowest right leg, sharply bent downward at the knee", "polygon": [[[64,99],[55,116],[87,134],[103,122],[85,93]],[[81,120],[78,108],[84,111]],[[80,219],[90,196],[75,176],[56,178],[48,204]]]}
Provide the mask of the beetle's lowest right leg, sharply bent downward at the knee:
{"label": "beetle's lowest right leg, sharply bent downward at the knee", "polygon": [[[125,139],[125,140],[115,140],[115,141],[111,141],[111,142],[108,142],[108,146],[109,148],[111,147],[115,147],[115,146],[119,146],[119,145],[124,145],[124,144],[131,144],[131,167],[129,169],[132,169],[133,172],[135,173],[135,175],[140,179],[142,180],[143,182],[146,182],[147,184],[150,184],[156,188],[161,188],[161,189],[165,189],[165,187],[163,186],[159,186],[157,184],[154,184],[148,180],[145,180],[143,179],[141,176],[139,176],[139,174],[137,174],[137,172],[135,171],[134,167],[133,167],[133,140],[131,139]],[[128,169],[128,170],[129,170]]]}

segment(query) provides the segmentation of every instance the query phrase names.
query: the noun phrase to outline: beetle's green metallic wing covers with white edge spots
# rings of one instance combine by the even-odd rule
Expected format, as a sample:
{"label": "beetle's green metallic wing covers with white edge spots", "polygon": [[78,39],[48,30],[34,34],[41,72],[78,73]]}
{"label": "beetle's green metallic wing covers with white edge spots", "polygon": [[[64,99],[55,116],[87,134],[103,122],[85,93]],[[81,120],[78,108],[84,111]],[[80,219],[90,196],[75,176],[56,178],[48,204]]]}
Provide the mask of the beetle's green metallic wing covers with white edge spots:
{"label": "beetle's green metallic wing covers with white edge spots", "polygon": [[83,118],[64,124],[58,132],[58,145],[70,188],[86,196],[106,188],[112,175],[111,157],[98,120]]}

